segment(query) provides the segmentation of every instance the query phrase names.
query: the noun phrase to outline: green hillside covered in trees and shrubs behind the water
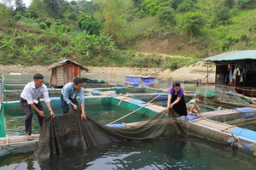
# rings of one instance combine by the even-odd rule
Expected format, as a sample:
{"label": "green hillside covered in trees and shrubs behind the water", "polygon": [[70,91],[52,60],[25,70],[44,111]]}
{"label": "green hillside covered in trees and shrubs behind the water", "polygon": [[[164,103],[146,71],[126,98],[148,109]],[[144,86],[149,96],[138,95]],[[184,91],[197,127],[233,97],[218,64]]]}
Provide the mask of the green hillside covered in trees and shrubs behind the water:
{"label": "green hillside covered in trees and shrubs behind the water", "polygon": [[175,70],[256,47],[256,0],[32,0],[27,8],[22,0],[2,2],[2,65],[73,59]]}

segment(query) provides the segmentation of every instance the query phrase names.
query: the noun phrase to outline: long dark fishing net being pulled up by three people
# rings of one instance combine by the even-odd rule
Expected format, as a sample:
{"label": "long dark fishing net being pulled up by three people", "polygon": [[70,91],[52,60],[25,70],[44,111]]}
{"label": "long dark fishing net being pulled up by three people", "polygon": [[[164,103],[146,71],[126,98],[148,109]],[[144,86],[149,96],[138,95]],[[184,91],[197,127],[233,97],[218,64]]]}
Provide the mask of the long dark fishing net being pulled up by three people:
{"label": "long dark fishing net being pulled up by three people", "polygon": [[90,116],[80,120],[79,111],[63,116],[44,119],[37,149],[33,159],[47,159],[52,155],[61,155],[64,149],[79,147],[86,150],[98,144],[111,142],[154,139],[167,133],[183,133],[183,127],[177,121],[177,113],[169,117],[165,112],[150,116],[143,122],[124,123],[124,128],[102,125]]}

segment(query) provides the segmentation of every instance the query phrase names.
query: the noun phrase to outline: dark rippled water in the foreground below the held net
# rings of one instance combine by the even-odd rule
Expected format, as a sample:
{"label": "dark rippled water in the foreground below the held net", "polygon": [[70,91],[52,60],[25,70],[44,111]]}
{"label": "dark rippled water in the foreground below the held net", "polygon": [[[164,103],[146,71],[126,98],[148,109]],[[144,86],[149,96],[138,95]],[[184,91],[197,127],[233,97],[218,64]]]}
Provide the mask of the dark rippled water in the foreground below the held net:
{"label": "dark rippled water in the foreground below the held net", "polygon": [[254,169],[255,157],[224,144],[188,136],[69,148],[61,156],[34,161],[32,153],[7,156],[0,169]]}

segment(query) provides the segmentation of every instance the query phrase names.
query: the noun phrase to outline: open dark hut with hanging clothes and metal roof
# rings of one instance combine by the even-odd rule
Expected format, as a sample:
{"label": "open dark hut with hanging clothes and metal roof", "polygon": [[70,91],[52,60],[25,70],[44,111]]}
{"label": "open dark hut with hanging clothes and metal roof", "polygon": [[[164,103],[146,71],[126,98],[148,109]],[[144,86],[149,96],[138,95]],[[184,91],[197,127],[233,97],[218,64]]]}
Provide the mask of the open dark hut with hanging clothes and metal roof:
{"label": "open dark hut with hanging clothes and metal roof", "polygon": [[203,61],[216,65],[215,84],[236,89],[239,94],[256,97],[256,50],[230,51]]}

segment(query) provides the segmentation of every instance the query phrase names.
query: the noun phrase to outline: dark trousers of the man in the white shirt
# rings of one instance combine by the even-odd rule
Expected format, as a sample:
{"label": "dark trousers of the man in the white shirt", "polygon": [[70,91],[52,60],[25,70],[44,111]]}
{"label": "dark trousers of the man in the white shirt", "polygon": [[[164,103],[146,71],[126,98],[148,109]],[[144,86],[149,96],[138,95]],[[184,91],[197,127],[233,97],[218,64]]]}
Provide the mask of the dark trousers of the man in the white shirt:
{"label": "dark trousers of the man in the white shirt", "polygon": [[[27,104],[26,99],[22,99],[20,98],[20,105],[22,106],[24,112],[26,113],[26,118],[25,118],[25,131],[27,135],[31,135],[32,134],[32,108],[30,105]],[[36,107],[38,108],[39,111],[44,111],[44,107],[41,104],[41,102],[38,99],[38,104],[34,104],[36,105]],[[41,117],[38,115],[38,113],[36,112],[37,116],[38,116],[38,122],[40,127],[42,126],[42,122],[44,117]]]}

